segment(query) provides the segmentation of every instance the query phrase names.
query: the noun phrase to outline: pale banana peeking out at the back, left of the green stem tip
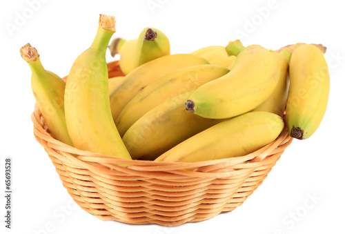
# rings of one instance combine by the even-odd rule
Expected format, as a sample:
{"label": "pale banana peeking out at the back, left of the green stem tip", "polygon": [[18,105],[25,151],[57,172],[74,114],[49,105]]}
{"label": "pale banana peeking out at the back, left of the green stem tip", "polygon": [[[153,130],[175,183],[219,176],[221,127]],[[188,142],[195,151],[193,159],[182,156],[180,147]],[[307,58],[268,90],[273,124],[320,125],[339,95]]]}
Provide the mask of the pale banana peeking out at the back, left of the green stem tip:
{"label": "pale banana peeking out at the back, left of the green stem tip", "polygon": [[210,64],[223,66],[224,68],[228,68],[236,59],[235,56],[228,56],[224,46],[206,46],[190,54],[197,55],[206,59]]}

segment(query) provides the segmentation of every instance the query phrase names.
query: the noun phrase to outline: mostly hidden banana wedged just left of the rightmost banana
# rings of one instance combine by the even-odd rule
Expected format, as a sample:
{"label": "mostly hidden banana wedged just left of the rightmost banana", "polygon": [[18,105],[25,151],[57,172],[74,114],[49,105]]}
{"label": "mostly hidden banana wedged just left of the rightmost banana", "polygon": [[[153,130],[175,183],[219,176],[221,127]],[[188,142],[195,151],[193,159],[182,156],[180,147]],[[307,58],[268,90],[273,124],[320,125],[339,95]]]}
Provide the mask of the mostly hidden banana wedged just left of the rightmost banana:
{"label": "mostly hidden banana wedged just left of the rightmost banana", "polygon": [[275,113],[283,117],[288,99],[288,59],[290,52],[282,50],[282,52],[273,52],[279,61],[279,79],[278,84],[270,97],[262,104],[257,106],[253,111],[267,111]]}

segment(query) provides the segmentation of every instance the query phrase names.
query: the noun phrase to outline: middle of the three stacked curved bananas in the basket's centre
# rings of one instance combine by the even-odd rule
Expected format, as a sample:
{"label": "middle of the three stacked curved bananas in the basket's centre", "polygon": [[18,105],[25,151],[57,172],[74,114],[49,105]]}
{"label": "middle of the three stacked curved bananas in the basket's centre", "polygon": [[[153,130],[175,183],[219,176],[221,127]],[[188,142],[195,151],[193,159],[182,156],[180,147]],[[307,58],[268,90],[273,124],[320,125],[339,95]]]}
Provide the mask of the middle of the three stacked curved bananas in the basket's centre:
{"label": "middle of the three stacked curved bananas in the basket's centre", "polygon": [[155,106],[171,97],[195,90],[202,84],[222,77],[228,72],[229,70],[222,66],[202,64],[181,68],[153,81],[146,88],[140,90],[117,117],[115,125],[119,134],[123,136],[135,121]]}

